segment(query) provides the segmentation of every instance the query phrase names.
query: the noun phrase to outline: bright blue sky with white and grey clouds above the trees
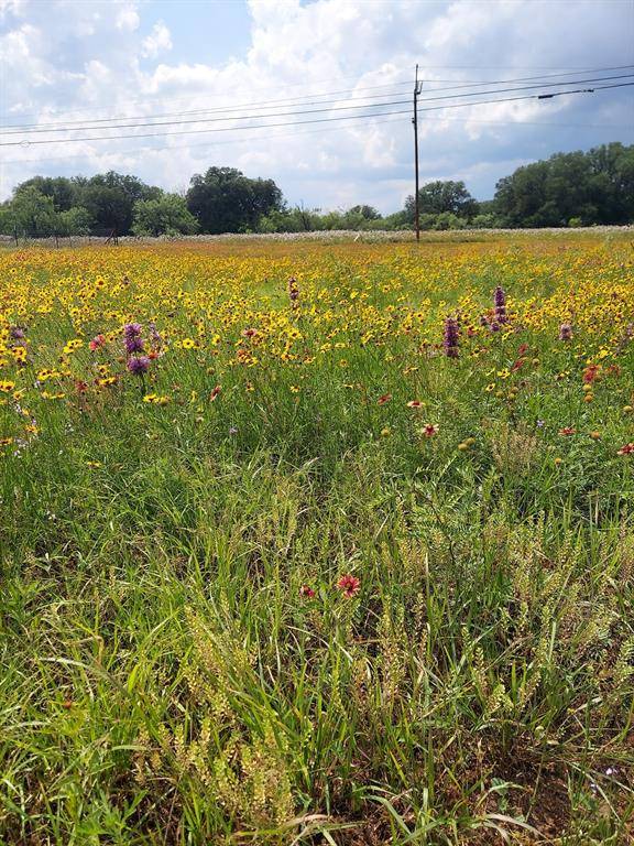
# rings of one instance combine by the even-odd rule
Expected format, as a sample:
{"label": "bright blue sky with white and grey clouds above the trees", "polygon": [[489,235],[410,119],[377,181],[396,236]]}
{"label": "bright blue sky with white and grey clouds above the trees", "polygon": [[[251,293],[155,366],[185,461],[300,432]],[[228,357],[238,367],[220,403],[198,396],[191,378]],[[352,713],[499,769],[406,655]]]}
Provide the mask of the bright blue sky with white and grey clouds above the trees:
{"label": "bright blue sky with white and grey clouds above the trees", "polygon": [[417,63],[422,183],[488,199],[527,162],[634,143],[634,87],[457,97],[634,73],[598,70],[634,65],[634,0],[0,0],[0,199],[108,170],[183,192],[217,165],[292,205],[394,212]]}

